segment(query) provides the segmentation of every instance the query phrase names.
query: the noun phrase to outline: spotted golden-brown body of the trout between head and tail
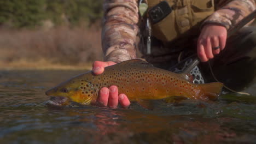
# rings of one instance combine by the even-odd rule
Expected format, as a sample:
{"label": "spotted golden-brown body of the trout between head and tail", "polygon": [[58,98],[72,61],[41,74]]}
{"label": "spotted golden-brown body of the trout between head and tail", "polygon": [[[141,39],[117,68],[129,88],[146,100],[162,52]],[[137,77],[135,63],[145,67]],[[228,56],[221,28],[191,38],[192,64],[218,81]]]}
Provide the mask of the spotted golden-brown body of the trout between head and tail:
{"label": "spotted golden-brown body of the trout between head and tail", "polygon": [[98,81],[96,77],[90,80],[92,83],[100,83],[97,89],[101,86],[118,86],[119,92],[129,95],[130,100],[136,100],[138,95],[139,99],[161,99],[168,95],[191,97],[197,95],[198,88],[196,89],[193,83],[184,80],[179,74],[154,67],[136,66],[106,68],[106,73],[96,76],[102,81]]}

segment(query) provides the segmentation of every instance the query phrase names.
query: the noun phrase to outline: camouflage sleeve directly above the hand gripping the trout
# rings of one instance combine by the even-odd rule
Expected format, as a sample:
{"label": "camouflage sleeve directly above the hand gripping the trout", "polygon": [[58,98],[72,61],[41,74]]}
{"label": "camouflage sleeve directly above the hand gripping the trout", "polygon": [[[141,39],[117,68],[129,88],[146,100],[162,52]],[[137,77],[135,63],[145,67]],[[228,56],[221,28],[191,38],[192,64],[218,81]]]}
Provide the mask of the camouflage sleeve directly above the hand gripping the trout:
{"label": "camouflage sleeve directly above the hand gripping the trout", "polygon": [[104,61],[122,62],[136,58],[138,0],[104,1],[102,49]]}

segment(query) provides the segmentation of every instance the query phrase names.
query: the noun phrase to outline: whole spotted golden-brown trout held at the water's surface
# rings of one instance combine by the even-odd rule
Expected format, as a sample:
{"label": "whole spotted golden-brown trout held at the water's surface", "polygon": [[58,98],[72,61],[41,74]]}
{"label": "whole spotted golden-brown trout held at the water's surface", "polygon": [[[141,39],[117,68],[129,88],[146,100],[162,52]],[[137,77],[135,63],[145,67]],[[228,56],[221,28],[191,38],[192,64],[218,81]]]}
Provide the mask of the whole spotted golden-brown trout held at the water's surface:
{"label": "whole spotted golden-brown trout held at the water's surface", "polygon": [[132,59],[106,67],[101,75],[88,71],[75,76],[50,89],[46,95],[52,97],[50,104],[61,106],[70,101],[88,105],[97,100],[102,87],[112,85],[118,87],[119,93],[125,93],[129,100],[138,103],[176,96],[215,100],[222,91],[222,83],[194,84],[189,79],[188,75],[156,68],[143,59]]}

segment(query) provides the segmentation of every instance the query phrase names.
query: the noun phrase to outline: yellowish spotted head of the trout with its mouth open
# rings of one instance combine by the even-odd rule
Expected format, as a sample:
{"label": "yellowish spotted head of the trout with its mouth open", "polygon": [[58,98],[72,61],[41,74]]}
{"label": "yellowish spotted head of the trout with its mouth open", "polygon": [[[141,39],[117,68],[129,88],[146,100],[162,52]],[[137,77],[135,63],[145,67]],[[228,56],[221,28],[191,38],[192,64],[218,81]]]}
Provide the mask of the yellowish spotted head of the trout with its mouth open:
{"label": "yellowish spotted head of the trout with its mouth open", "polygon": [[45,92],[51,99],[48,104],[55,106],[68,105],[71,102],[90,104],[95,90],[91,82],[69,80]]}

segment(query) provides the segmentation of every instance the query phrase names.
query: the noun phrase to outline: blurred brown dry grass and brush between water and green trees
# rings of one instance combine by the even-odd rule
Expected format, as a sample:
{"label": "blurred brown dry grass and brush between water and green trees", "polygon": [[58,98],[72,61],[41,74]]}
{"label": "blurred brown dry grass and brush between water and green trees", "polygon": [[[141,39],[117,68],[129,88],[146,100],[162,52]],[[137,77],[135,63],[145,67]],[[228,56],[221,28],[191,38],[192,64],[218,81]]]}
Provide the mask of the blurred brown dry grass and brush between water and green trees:
{"label": "blurred brown dry grass and brush between water and green trees", "polygon": [[[0,67],[80,67],[102,60],[100,28],[0,29]],[[48,65],[48,66],[47,66]]]}

